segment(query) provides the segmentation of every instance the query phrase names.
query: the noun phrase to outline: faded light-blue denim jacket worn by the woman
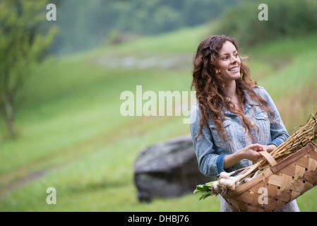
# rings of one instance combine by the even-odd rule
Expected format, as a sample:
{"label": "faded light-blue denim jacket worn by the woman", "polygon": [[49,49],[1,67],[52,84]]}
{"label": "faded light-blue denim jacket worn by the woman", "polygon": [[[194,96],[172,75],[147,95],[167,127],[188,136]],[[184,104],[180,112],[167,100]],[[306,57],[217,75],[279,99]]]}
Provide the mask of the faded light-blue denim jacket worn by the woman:
{"label": "faded light-blue denim jacket worn by the woman", "polygon": [[[254,88],[254,91],[268,102],[268,107],[270,107],[275,114],[275,124],[270,122],[268,114],[263,112],[258,103],[253,102],[249,95],[246,94],[244,115],[251,120],[252,124],[256,124],[259,129],[259,132],[257,129],[251,129],[251,134],[253,136],[252,141],[253,143],[260,143],[261,145],[274,144],[278,146],[289,138],[287,130],[285,129],[272,98],[266,90],[263,87],[257,87]],[[229,169],[223,169],[223,162],[226,155],[246,147],[244,127],[237,114],[233,114],[227,109],[225,110],[225,120],[222,125],[231,141],[223,141],[223,139],[218,136],[217,131],[215,130],[215,123],[210,116],[208,118],[208,124],[203,126],[202,134],[197,138],[198,142],[196,142],[200,117],[201,113],[198,103],[196,102],[196,104],[191,107],[189,118],[191,122],[190,130],[193,148],[198,160],[199,170],[205,174],[205,176],[215,177],[222,171],[232,172],[241,167],[248,166],[249,160],[244,159],[236,165],[229,167]]]}

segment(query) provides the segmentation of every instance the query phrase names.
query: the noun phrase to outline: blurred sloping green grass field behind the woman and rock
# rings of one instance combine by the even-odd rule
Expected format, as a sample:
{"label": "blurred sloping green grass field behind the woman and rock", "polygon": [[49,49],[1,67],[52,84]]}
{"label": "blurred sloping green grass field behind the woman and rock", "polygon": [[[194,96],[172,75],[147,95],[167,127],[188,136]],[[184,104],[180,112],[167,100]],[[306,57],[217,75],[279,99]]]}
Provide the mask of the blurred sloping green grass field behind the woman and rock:
{"label": "blurred sloping green grass field behind the woman and rock", "polygon": [[[204,25],[42,64],[23,91],[18,138],[1,136],[0,210],[219,211],[217,197],[198,201],[194,194],[139,203],[133,184],[138,153],[189,133],[189,125],[183,124],[184,117],[120,114],[120,94],[136,93],[136,85],[143,92],[189,91],[193,53],[212,30]],[[316,38],[313,34],[242,50],[289,133],[317,107]],[[140,68],[140,61],[147,67]],[[176,63],[167,64],[171,61]],[[0,126],[4,134],[2,121]],[[56,189],[56,205],[46,203],[48,187]],[[316,211],[316,197],[317,189],[299,197],[301,210]]]}

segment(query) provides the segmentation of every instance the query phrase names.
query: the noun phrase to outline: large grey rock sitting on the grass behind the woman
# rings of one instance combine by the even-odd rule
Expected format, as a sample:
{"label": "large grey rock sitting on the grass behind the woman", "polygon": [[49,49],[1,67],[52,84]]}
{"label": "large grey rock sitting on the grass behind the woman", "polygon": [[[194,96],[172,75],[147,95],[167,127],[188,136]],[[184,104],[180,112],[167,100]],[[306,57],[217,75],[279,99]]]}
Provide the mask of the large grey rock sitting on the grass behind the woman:
{"label": "large grey rock sitting on the grass behind the woman", "polygon": [[134,165],[139,201],[182,196],[212,180],[198,169],[190,135],[145,148]]}

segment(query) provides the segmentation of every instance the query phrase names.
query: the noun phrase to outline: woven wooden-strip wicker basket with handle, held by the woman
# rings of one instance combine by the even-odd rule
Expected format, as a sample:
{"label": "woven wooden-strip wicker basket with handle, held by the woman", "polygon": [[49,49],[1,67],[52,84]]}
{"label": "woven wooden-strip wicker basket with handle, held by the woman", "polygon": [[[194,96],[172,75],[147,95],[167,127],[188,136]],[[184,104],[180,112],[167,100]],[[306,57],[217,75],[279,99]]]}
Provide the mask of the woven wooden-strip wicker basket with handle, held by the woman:
{"label": "woven wooden-strip wicker basket with handle, held by the woman", "polygon": [[312,144],[278,163],[268,153],[263,156],[271,165],[269,169],[223,195],[232,210],[272,212],[316,186],[317,153]]}

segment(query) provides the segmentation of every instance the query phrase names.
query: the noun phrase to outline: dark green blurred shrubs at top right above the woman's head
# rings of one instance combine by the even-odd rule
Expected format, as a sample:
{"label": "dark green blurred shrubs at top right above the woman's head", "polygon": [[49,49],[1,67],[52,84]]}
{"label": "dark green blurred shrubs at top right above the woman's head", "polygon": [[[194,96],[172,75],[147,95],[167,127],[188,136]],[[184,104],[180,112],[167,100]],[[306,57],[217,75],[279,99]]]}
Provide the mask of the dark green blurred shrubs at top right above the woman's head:
{"label": "dark green blurred shrubs at top right above the woman's head", "polygon": [[[268,5],[268,20],[259,20],[259,4]],[[317,2],[311,0],[243,1],[220,18],[218,34],[235,37],[244,47],[279,37],[306,35],[317,30]]]}

